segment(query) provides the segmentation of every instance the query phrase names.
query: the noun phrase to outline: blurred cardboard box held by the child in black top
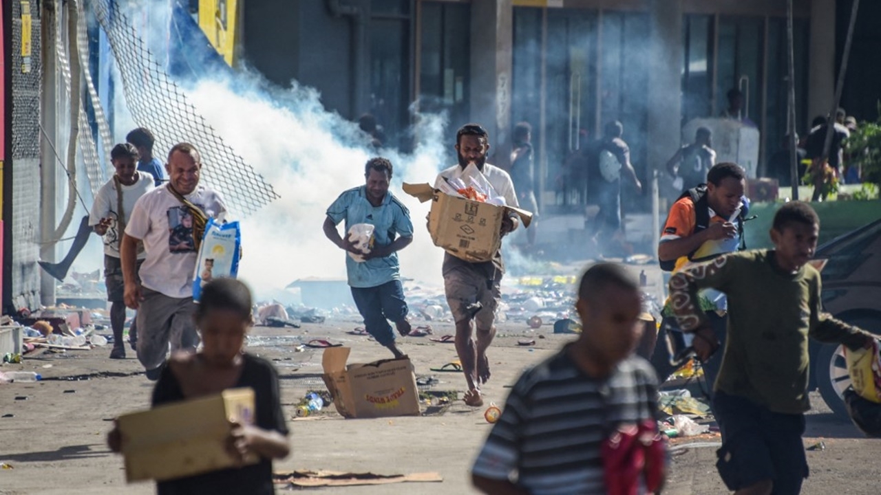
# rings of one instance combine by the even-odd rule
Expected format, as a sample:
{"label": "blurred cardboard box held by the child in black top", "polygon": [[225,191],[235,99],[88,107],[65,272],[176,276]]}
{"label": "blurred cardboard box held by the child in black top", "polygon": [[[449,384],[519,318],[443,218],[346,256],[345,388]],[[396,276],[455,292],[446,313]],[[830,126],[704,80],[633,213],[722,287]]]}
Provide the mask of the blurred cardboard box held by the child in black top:
{"label": "blurred cardboard box held by the child in black top", "polygon": [[[254,390],[230,388],[118,418],[129,483],[163,481],[236,466],[226,453],[230,421],[253,425]],[[256,455],[245,459],[255,464]]]}

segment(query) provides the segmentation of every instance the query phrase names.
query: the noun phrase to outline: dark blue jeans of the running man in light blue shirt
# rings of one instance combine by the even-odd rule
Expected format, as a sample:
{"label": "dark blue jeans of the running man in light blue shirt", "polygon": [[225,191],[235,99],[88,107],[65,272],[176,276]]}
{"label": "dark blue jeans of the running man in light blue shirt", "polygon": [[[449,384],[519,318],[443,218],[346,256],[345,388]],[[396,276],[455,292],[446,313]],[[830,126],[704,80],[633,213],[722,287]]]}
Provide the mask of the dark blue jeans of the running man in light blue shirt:
{"label": "dark blue jeans of the running man in light blue shirt", "polygon": [[376,342],[388,347],[395,344],[395,332],[389,320],[401,321],[407,315],[407,302],[403,300],[400,280],[391,280],[375,287],[351,287],[352,299],[364,318],[364,329]]}

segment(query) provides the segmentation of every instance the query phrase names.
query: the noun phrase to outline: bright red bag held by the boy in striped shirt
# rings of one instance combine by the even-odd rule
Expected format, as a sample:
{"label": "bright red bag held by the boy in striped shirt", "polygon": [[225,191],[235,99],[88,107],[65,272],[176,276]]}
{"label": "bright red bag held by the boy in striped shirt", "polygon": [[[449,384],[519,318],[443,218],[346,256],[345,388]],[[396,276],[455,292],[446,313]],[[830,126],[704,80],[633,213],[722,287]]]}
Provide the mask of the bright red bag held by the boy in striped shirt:
{"label": "bright red bag held by the boy in striped shirt", "polygon": [[603,477],[609,495],[637,495],[640,479],[648,493],[661,488],[667,451],[657,423],[620,425],[603,441]]}

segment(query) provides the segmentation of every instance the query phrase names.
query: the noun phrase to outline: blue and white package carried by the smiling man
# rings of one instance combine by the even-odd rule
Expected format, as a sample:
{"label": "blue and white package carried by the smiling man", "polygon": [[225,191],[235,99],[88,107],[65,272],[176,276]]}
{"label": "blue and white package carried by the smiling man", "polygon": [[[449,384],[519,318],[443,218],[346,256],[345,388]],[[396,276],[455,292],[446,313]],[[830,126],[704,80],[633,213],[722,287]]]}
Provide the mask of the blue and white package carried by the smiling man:
{"label": "blue and white package carried by the smiling man", "polygon": [[223,224],[214,218],[208,219],[199,256],[196,258],[196,273],[193,275],[193,300],[198,302],[202,288],[211,280],[220,277],[235,278],[239,274],[241,255],[241,231],[239,222]]}

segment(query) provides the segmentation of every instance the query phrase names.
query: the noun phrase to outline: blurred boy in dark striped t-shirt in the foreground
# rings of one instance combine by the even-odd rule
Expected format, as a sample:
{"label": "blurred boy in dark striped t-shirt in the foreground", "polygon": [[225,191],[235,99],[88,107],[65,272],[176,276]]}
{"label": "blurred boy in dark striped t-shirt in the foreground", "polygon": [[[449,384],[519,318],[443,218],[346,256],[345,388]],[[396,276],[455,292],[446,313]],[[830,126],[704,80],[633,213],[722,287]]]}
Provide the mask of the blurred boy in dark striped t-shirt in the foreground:
{"label": "blurred boy in dark striped t-shirt in the foreground", "polygon": [[517,380],[472,468],[478,490],[608,493],[603,444],[623,425],[654,425],[655,372],[633,355],[639,284],[619,265],[596,264],[575,307],[581,336]]}

